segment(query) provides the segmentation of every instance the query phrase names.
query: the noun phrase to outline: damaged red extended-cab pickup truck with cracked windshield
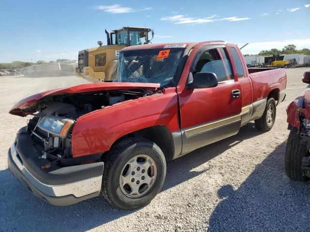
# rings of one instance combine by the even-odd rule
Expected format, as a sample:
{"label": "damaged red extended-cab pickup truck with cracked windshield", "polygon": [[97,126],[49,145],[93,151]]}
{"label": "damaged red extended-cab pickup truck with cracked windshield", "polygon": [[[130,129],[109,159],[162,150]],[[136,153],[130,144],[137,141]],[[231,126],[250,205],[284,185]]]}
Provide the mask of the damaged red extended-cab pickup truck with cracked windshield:
{"label": "damaged red extended-cab pickup truck with cracked windshield", "polygon": [[124,48],[113,82],[49,90],[11,109],[32,116],[8,154],[37,197],[69,205],[100,192],[122,209],[160,191],[166,161],[234,134],[269,131],[285,98],[283,69],[248,69],[223,41]]}

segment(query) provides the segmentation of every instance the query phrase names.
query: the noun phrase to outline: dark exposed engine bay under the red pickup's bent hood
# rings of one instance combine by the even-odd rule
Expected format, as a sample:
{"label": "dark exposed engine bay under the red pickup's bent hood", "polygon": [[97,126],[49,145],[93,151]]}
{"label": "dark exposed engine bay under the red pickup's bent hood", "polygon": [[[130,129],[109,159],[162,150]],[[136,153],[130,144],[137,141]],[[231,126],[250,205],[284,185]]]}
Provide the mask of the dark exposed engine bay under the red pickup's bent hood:
{"label": "dark exposed engine bay under the red pickup's bent hood", "polygon": [[[68,129],[66,136],[60,136],[40,127],[40,121],[42,123],[42,120],[46,120],[47,117],[76,121],[78,117],[95,110],[159,92],[158,90],[130,89],[48,96],[31,106],[31,109],[25,109],[26,111],[37,111],[29,120],[27,131],[30,133],[33,145],[39,153],[39,159],[49,160],[59,166],[76,165],[85,160],[83,158],[73,159],[72,157],[72,128]],[[46,121],[48,123],[48,120]],[[86,159],[92,159],[92,156],[87,156]]]}

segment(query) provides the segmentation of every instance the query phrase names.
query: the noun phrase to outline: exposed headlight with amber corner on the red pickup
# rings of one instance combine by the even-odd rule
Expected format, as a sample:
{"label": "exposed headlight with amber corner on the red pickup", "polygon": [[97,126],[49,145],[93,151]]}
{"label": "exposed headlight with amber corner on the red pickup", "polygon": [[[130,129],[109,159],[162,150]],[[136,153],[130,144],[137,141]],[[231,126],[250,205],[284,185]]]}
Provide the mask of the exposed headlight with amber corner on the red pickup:
{"label": "exposed headlight with amber corner on the red pickup", "polygon": [[38,127],[51,134],[65,138],[74,123],[75,121],[69,118],[47,116],[41,118]]}

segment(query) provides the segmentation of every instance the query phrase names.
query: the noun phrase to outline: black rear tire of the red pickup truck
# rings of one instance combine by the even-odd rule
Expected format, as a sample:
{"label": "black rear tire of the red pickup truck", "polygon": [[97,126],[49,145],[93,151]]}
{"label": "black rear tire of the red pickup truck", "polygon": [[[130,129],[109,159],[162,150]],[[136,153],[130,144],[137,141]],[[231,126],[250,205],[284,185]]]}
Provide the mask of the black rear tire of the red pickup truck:
{"label": "black rear tire of the red pickup truck", "polygon": [[[269,106],[273,107],[272,120],[270,120],[270,122],[268,118]],[[263,116],[259,119],[254,120],[256,129],[259,131],[270,131],[273,125],[275,124],[276,115],[277,115],[276,101],[273,98],[269,98],[267,100]]]}

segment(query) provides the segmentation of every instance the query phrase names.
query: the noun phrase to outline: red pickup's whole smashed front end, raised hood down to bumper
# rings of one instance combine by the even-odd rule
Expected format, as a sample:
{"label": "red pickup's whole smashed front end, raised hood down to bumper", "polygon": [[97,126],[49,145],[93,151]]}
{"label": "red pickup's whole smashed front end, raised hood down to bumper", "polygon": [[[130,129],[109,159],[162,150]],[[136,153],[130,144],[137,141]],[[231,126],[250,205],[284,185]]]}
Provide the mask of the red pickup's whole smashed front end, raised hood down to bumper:
{"label": "red pickup's whole smashed front end, raised hood down to bumper", "polygon": [[18,131],[8,151],[8,166],[40,199],[69,205],[98,196],[104,169],[103,152],[75,157],[74,126],[81,116],[159,92],[157,84],[146,84],[149,86],[145,88],[137,88],[135,84],[129,87],[104,84],[104,87],[89,84],[47,91],[24,99],[11,109],[13,115],[31,118]]}

